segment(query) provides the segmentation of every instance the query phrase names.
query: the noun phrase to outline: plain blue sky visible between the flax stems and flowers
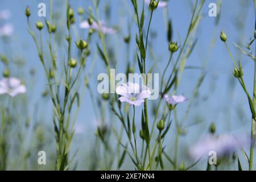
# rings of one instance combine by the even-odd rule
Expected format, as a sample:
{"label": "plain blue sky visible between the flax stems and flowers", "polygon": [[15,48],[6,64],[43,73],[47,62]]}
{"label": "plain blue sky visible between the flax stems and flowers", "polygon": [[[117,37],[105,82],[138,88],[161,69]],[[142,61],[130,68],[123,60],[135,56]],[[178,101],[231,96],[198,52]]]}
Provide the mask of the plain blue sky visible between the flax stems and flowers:
{"label": "plain blue sky visible between the flax stems and flowers", "polygon": [[[0,1],[0,10],[9,9],[11,10],[12,16],[9,22],[14,24],[15,31],[11,38],[10,46],[7,48],[9,51],[5,51],[6,47],[3,42],[0,42],[0,53],[6,53],[8,56],[19,56],[25,60],[24,72],[19,73],[25,82],[28,78],[28,71],[34,68],[36,71],[36,76],[34,78],[35,88],[28,90],[29,107],[31,111],[34,109],[35,103],[39,103],[39,117],[46,118],[51,123],[52,110],[48,106],[51,102],[48,100],[42,100],[41,93],[46,88],[46,78],[43,72],[42,64],[39,61],[34,43],[32,42],[31,36],[27,32],[27,22],[26,16],[24,16],[24,9],[27,5],[31,9],[31,23],[34,26],[36,20],[42,19],[37,16],[38,3],[44,2],[47,5],[47,18],[49,18],[49,3],[48,1],[31,1],[31,0],[10,0],[10,1]],[[104,6],[108,2],[111,7],[111,19],[108,20],[108,26],[119,27],[119,31],[115,35],[109,35],[107,42],[107,47],[109,45],[114,45],[117,55],[115,55],[118,63],[118,72],[123,72],[125,65],[122,64],[126,59],[126,46],[123,43],[123,36],[127,35],[127,19],[131,22],[130,13],[133,13],[133,7],[131,6],[130,0],[109,0],[101,1],[100,3],[100,16],[101,19],[104,17]],[[140,4],[142,1],[138,1]],[[181,42],[184,41],[185,34],[187,33],[187,28],[191,18],[191,6],[190,2],[187,0],[170,0],[168,3],[168,11],[170,18],[172,19],[174,36],[173,39],[178,41],[180,35]],[[201,66],[201,63],[207,59],[207,76],[200,88],[199,99],[196,100],[192,107],[191,114],[188,117],[188,125],[191,121],[203,121],[200,125],[192,126],[188,128],[188,134],[183,137],[181,141],[185,143],[194,143],[204,131],[208,130],[210,122],[215,122],[217,126],[217,133],[236,133],[237,135],[249,135],[250,133],[250,110],[247,103],[246,95],[243,93],[240,85],[233,78],[233,63],[230,59],[228,52],[225,49],[224,44],[219,39],[219,34],[221,30],[224,30],[228,36],[228,45],[232,51],[236,60],[241,59],[244,68],[245,82],[248,90],[253,89],[253,61],[248,57],[241,55],[236,47],[234,47],[234,42],[241,42],[247,44],[250,37],[253,36],[254,32],[254,6],[253,1],[234,1],[225,0],[222,2],[221,7],[221,17],[220,22],[216,26],[214,22],[216,18],[208,16],[208,5],[210,2],[215,2],[213,0],[207,0],[203,8],[204,18],[200,22],[199,30],[196,34],[198,38],[197,46],[193,51],[192,55],[189,57],[187,65]],[[64,3],[64,1],[63,1]],[[74,10],[77,7],[82,6],[87,9],[88,6],[93,6],[92,2],[89,0],[75,0],[71,1],[71,6]],[[141,7],[141,6],[140,6]],[[64,6],[53,6],[54,10],[61,11],[65,13]],[[162,72],[165,65],[167,64],[169,52],[168,52],[168,42],[166,39],[166,25],[164,24],[164,10],[158,9],[154,12],[152,19],[152,29],[156,31],[157,38],[154,39],[154,53],[156,59],[158,60],[157,68]],[[43,20],[43,19],[42,19]],[[149,11],[146,11],[145,25],[148,24]],[[63,22],[65,23],[65,22]],[[238,26],[243,26],[244,29]],[[35,26],[34,26],[35,27]],[[146,27],[146,26],[145,26]],[[34,29],[35,30],[35,29]],[[35,32],[37,32],[35,30]],[[137,27],[135,23],[132,24],[131,28],[131,52],[130,60],[133,60],[133,53],[136,49],[134,35],[137,32]],[[212,37],[216,38],[214,47],[209,52],[209,45]],[[94,43],[94,42],[93,42]],[[152,42],[150,42],[152,43]],[[94,45],[95,47],[95,45]],[[252,49],[254,50],[255,45],[253,44]],[[95,49],[92,49],[92,55],[95,53]],[[209,55],[208,55],[209,54]],[[92,57],[92,56],[91,56]],[[148,56],[149,57],[149,56]],[[175,55],[176,58],[176,55]],[[88,60],[90,61],[90,60]],[[148,68],[153,63],[148,62]],[[96,67],[94,68],[94,76],[90,80],[96,92],[97,75],[98,73],[104,72],[103,63],[100,57],[97,57]],[[137,65],[136,65],[137,66]],[[1,65],[2,67],[2,65]],[[2,71],[0,67],[0,71]],[[138,72],[138,68],[136,69]],[[158,70],[156,69],[155,72]],[[18,71],[11,71],[12,75],[18,75]],[[184,75],[180,82],[180,87],[178,89],[178,94],[183,94],[186,97],[191,97],[193,88],[200,76],[199,70],[185,70]],[[86,91],[86,93],[88,93]],[[93,122],[95,117],[93,114],[93,109],[90,101],[90,97],[85,93],[85,97],[82,101],[81,111],[78,119],[78,123],[86,128],[86,136],[93,137],[94,130],[91,130],[94,126]],[[179,118],[184,114],[188,103],[178,106],[180,110],[178,113]],[[140,108],[141,109],[141,108]],[[47,114],[46,114],[47,113]],[[49,114],[48,114],[49,113]],[[139,113],[139,112],[138,112]],[[151,116],[151,120],[152,120]],[[175,130],[175,129],[174,129]],[[173,131],[174,131],[173,130]],[[171,130],[172,131],[172,130]],[[200,132],[198,132],[200,131]],[[203,132],[201,132],[203,131]],[[89,140],[85,138],[75,138],[86,144]],[[171,139],[172,140],[172,139]],[[81,145],[81,144],[80,144]]]}

